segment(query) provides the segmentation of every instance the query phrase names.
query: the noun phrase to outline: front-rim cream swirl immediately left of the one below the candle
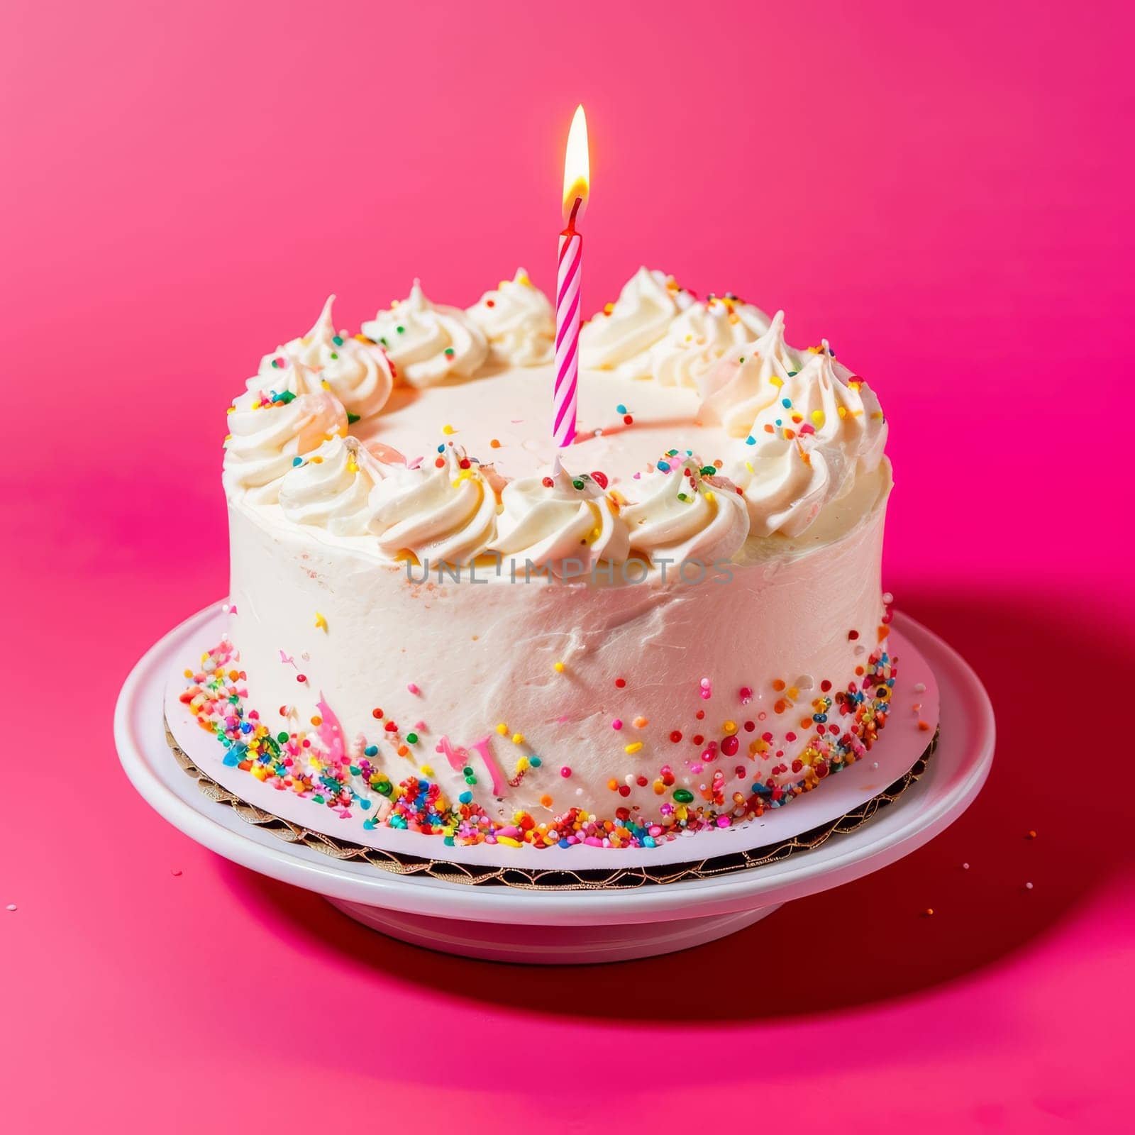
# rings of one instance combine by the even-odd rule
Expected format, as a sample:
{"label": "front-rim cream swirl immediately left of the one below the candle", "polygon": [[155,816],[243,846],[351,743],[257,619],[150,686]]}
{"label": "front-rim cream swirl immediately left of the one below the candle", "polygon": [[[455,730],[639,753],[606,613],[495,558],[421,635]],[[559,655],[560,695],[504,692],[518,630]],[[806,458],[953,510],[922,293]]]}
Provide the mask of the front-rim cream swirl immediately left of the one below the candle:
{"label": "front-rim cream swirl immediately left of the one below the candle", "polygon": [[384,465],[369,529],[392,557],[464,566],[496,536],[496,494],[474,461],[449,445],[417,468]]}

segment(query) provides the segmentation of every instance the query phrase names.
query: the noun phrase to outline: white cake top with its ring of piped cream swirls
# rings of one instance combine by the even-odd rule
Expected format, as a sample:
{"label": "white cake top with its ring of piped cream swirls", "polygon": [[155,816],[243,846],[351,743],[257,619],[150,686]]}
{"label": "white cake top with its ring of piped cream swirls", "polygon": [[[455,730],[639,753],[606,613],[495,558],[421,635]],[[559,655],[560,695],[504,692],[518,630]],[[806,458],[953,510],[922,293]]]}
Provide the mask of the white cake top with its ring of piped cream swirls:
{"label": "white cake top with its ring of piped cream swirls", "polygon": [[264,355],[229,411],[230,499],[379,560],[648,565],[814,543],[889,487],[886,422],[827,340],[639,269],[580,334],[578,432],[550,434],[555,335],[523,269],[468,309],[419,281]]}

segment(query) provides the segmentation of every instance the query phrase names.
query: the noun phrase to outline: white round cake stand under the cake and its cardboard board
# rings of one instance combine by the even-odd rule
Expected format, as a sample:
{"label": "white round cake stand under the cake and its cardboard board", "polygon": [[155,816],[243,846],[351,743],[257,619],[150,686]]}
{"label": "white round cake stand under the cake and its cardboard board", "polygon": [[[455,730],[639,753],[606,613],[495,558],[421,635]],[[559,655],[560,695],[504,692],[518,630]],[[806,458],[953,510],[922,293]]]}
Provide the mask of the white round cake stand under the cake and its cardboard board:
{"label": "white round cake stand under the cake and its cardboard board", "polygon": [[175,827],[234,863],[322,894],[392,938],[471,958],[581,965],[646,958],[723,938],[791,899],[909,855],[968,807],[993,759],[993,709],[977,675],[936,634],[896,614],[896,629],[938,680],[941,737],[923,776],[856,831],[779,863],[636,890],[518,890],[395,875],[285,843],[210,800],[178,766],[165,740],[163,695],[192,623],[175,628],[145,654],[118,698],[115,740],[138,792]]}

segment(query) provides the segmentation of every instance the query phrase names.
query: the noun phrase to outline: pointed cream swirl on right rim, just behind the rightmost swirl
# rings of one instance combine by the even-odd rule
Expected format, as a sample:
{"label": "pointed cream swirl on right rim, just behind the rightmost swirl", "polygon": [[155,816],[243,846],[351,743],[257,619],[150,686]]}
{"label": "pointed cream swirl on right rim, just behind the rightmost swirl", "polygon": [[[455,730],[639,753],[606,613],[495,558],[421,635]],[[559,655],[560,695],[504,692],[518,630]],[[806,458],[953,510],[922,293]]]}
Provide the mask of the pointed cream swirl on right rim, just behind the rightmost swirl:
{"label": "pointed cream swirl on right rim, just behind the rightmost swirl", "polygon": [[784,343],[784,312],[777,311],[764,335],[698,381],[698,419],[720,423],[733,437],[747,437],[757,414],[780,398],[783,385],[801,367],[799,352]]}

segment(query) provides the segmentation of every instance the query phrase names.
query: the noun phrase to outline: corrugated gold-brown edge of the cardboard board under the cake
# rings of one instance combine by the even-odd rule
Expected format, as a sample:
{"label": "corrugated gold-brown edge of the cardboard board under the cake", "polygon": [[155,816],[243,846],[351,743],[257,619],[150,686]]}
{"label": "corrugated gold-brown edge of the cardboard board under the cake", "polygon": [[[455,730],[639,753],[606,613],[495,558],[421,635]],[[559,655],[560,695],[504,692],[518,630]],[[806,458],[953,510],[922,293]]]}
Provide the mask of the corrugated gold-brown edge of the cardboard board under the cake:
{"label": "corrugated gold-brown edge of the cardboard board under the cake", "polygon": [[[664,864],[657,867],[564,871],[548,867],[478,867],[471,864],[452,863],[447,859],[422,859],[417,856],[363,847],[360,843],[352,843],[350,840],[335,839],[322,832],[302,827],[242,800],[241,797],[218,784],[211,776],[202,772],[177,743],[170,731],[169,721],[163,718],[163,724],[166,726],[166,743],[174,754],[174,758],[182,770],[196,781],[197,788],[210,800],[228,805],[245,823],[271,832],[285,843],[302,843],[304,847],[321,851],[333,859],[362,860],[379,871],[387,871],[394,875],[427,875],[447,883],[466,883],[471,886],[496,885],[512,886],[518,890],[557,891],[628,890],[663,883],[686,883],[698,878],[717,878],[738,871],[751,871],[754,867],[763,867],[765,864],[780,863],[780,860],[799,851],[812,851],[825,843],[832,835],[846,835],[861,827],[881,808],[893,804],[914,784],[926,772],[930,758],[938,748],[941,729],[940,726],[934,730],[930,745],[926,746],[914,765],[877,796],[873,796],[858,807],[822,824],[819,827],[801,832],[790,839],[753,848],[748,851],[731,851],[690,863]],[[713,833],[706,834],[712,835]],[[617,851],[612,851],[612,855],[617,854]]]}

